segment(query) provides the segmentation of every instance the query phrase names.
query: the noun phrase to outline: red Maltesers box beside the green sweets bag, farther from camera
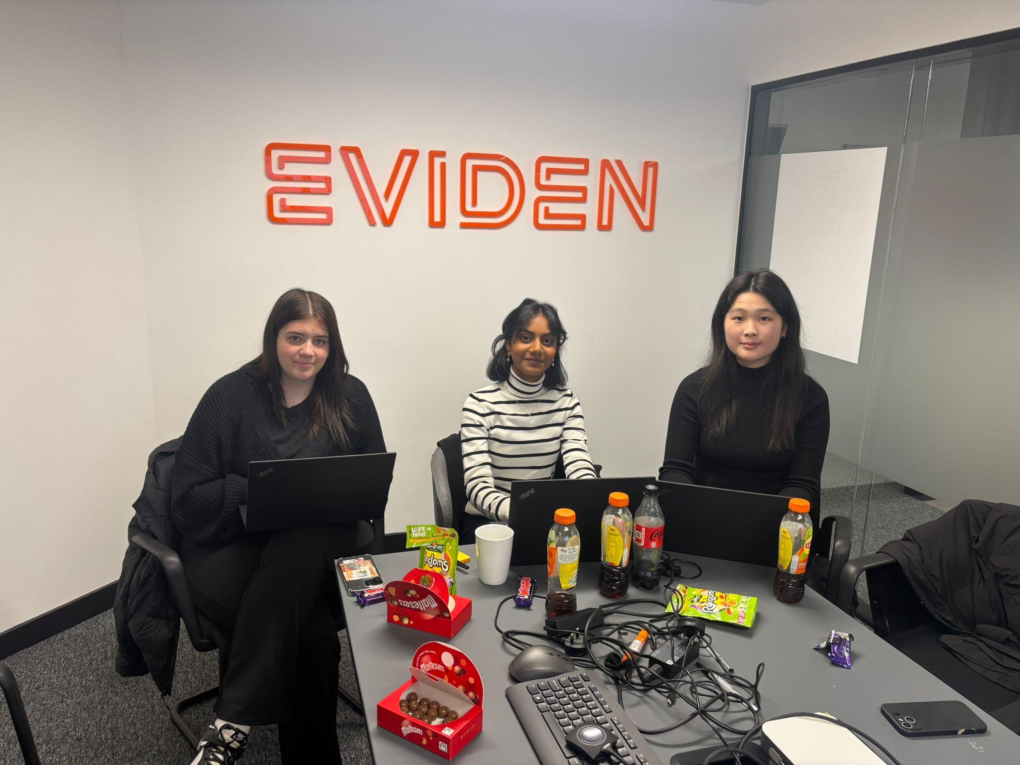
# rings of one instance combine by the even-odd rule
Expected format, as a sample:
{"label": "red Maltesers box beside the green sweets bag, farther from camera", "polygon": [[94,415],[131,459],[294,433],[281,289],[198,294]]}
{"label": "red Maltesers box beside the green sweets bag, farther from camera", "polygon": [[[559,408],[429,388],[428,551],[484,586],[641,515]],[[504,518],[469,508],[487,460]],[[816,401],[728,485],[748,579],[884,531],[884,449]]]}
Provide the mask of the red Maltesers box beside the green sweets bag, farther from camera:
{"label": "red Maltesers box beside the green sweets bag, farther from camera", "polygon": [[386,584],[387,621],[453,638],[471,618],[471,599],[450,595],[436,571],[412,568],[403,579]]}

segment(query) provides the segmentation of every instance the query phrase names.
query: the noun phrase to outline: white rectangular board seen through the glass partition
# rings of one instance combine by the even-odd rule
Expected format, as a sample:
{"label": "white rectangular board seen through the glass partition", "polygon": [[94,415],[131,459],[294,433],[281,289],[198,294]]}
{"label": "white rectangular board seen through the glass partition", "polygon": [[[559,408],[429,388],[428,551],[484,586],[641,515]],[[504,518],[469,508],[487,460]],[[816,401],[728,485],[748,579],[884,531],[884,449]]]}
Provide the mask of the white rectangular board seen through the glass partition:
{"label": "white rectangular board seen through the glass partition", "polygon": [[801,310],[804,347],[856,364],[886,147],[784,154],[770,267]]}

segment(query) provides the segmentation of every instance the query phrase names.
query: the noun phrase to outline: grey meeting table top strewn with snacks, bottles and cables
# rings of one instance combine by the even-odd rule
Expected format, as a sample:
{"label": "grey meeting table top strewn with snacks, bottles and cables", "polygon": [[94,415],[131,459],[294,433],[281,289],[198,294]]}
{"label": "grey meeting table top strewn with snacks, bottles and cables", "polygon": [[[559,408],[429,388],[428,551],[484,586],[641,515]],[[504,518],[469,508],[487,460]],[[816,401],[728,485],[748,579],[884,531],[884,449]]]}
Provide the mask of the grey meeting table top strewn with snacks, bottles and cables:
{"label": "grey meeting table top strewn with snacks, bottles and cables", "polygon": [[[466,552],[473,555],[474,546],[466,546]],[[379,555],[375,561],[382,577],[389,581],[416,566],[417,557],[417,551],[407,551]],[[1020,736],[989,715],[974,709],[941,680],[814,591],[808,590],[800,604],[787,606],[772,597],[774,569],[770,567],[691,558],[701,564],[703,572],[697,579],[684,583],[759,598],[757,620],[751,629],[716,622],[707,622],[707,627],[713,646],[737,674],[753,679],[758,663],[765,662],[765,673],[759,686],[763,720],[786,712],[828,712],[881,742],[904,765],[1007,765],[1020,762]],[[486,765],[532,765],[539,762],[505,695],[506,687],[514,682],[507,665],[516,651],[502,642],[493,625],[496,607],[500,600],[515,593],[518,574],[538,577],[540,593],[544,594],[545,570],[542,566],[512,569],[506,583],[500,586],[489,586],[478,581],[473,561],[469,571],[459,572],[458,594],[472,600],[472,614],[464,628],[447,642],[471,657],[481,673],[484,718],[481,733],[465,747],[455,762]],[[612,602],[599,595],[597,582],[598,564],[581,564],[577,584],[578,608]],[[649,595],[645,591],[635,592],[633,588],[627,593],[627,597],[633,598]],[[442,639],[388,623],[385,603],[361,608],[346,594],[342,601],[375,762],[379,765],[440,762],[436,755],[378,727],[375,724],[375,705],[409,678],[407,667],[415,649],[426,641]],[[652,613],[654,606],[635,606],[635,609],[647,609]],[[545,608],[541,600],[536,600],[530,610],[514,608],[513,601],[510,601],[500,613],[500,627],[503,629],[541,632],[544,622]],[[854,634],[853,669],[831,664],[824,653],[813,650],[830,629]],[[702,661],[707,666],[715,666],[704,654]],[[601,675],[600,679],[613,688],[608,677]],[[963,701],[987,723],[988,730],[981,735],[908,738],[894,730],[879,711],[885,703],[922,700]],[[682,702],[669,708],[659,695],[642,695],[629,690],[624,692],[623,701],[627,714],[640,727],[648,729],[667,725],[691,711]],[[746,711],[726,713],[721,719],[736,728],[746,729],[752,724]],[[731,734],[727,737],[734,743],[738,740]],[[664,734],[647,736],[647,740],[666,765],[677,752],[704,749],[719,741],[701,719]]]}

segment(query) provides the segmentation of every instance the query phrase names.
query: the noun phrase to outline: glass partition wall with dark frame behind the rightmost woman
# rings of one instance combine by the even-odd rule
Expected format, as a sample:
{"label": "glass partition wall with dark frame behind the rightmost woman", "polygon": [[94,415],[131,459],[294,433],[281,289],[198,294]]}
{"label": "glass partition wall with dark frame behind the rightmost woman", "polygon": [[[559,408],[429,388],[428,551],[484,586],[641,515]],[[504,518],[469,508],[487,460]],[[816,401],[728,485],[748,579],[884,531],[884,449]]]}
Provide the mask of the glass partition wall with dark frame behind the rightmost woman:
{"label": "glass partition wall with dark frame behind the rightmost woman", "polygon": [[822,515],[1020,504],[1020,32],[753,90],[737,269],[801,304]]}

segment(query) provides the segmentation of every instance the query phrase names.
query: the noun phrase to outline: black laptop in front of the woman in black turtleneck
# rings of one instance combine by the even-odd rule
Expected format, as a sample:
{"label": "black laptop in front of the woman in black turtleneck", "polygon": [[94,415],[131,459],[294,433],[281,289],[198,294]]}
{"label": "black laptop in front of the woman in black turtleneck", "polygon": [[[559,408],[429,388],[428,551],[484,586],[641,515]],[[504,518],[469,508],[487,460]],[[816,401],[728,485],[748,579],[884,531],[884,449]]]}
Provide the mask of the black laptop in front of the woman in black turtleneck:
{"label": "black laptop in front of the woman in black turtleneck", "polygon": [[779,521],[788,509],[788,497],[668,480],[656,484],[666,516],[666,551],[759,566],[776,564]]}

